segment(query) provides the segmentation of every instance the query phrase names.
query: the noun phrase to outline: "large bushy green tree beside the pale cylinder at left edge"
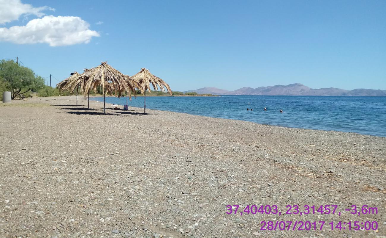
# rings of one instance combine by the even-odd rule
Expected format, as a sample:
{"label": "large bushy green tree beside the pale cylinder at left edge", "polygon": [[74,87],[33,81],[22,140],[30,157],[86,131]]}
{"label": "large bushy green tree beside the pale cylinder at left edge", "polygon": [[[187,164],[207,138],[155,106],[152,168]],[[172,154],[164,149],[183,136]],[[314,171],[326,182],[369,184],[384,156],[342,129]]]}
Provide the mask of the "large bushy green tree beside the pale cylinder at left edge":
{"label": "large bushy green tree beside the pale cylinder at left edge", "polygon": [[13,60],[0,62],[0,77],[4,79],[7,90],[11,91],[12,99],[32,89],[37,91],[44,86],[42,77],[35,75],[32,69],[20,66]]}

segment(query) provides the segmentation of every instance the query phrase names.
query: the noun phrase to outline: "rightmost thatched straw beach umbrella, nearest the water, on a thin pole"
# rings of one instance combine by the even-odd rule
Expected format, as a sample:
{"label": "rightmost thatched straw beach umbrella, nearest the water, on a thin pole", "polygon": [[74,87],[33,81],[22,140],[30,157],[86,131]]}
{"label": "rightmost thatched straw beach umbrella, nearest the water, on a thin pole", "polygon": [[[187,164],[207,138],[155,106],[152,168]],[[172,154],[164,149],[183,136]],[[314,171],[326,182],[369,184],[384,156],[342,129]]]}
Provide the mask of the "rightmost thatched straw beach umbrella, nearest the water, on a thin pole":
{"label": "rightmost thatched straw beach umbrella, nearest the water, on a thin pole", "polygon": [[152,84],[154,91],[158,90],[158,87],[162,92],[165,92],[168,90],[169,94],[171,95],[171,89],[169,87],[169,84],[167,84],[164,80],[160,79],[157,76],[152,75],[149,70],[146,68],[142,68],[141,71],[139,71],[137,74],[132,76],[132,78],[139,82],[139,84],[142,86],[142,89],[144,90],[144,113],[146,114],[146,91],[149,90],[150,92],[150,84]]}

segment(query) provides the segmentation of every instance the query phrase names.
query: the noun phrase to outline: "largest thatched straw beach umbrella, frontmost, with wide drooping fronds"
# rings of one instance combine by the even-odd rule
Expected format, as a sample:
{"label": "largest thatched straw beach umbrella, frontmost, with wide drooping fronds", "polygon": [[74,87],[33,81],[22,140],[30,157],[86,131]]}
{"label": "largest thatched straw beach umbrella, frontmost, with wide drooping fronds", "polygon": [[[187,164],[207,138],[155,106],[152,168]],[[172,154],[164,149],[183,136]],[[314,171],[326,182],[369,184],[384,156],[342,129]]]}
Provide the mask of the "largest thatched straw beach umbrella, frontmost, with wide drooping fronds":
{"label": "largest thatched straw beach umbrella, frontmost, with wide drooping fronds", "polygon": [[81,91],[85,96],[90,90],[97,89],[98,86],[101,86],[103,88],[103,113],[106,113],[106,90],[108,90],[107,92],[110,94],[114,93],[115,96],[118,92],[119,97],[122,91],[127,91],[130,99],[132,91],[134,92],[134,96],[136,96],[135,87],[133,86],[136,84],[129,82],[126,75],[108,65],[107,61],[85,71],[68,84],[70,90],[80,85]]}

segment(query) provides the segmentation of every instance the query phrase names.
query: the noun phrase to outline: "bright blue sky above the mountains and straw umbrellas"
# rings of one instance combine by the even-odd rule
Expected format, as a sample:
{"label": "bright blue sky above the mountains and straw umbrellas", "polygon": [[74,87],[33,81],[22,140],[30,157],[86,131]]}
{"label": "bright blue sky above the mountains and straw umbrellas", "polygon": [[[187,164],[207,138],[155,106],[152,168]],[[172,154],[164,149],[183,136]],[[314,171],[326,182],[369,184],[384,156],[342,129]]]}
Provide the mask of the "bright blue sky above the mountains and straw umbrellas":
{"label": "bright blue sky above the mountains and straw umbrellas", "polygon": [[[0,8],[4,4],[8,0],[0,0]],[[59,30],[51,23],[39,30],[44,32],[3,30],[0,58],[18,56],[42,77],[63,80],[74,70],[83,72],[107,60],[128,75],[148,68],[175,91],[291,83],[386,90],[384,0],[20,4],[33,8],[18,20],[3,19],[7,22],[0,24],[0,33],[2,27],[25,26],[49,15],[79,17],[72,23],[62,19],[69,26]],[[74,25],[81,26],[82,34],[67,41]],[[35,43],[39,37],[42,43]],[[52,86],[56,83],[52,79]]]}

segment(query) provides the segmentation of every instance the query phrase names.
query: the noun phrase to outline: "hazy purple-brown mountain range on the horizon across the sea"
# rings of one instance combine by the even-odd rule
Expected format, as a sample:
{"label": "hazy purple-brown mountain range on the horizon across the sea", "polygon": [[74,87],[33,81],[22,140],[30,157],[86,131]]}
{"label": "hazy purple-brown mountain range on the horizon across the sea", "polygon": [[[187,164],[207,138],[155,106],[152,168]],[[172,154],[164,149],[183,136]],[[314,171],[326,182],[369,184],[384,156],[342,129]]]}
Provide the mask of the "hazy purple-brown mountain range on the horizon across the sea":
{"label": "hazy purple-brown mountain range on the horizon across the sea", "polygon": [[312,89],[303,84],[275,85],[267,87],[242,87],[235,91],[227,91],[215,87],[186,92],[211,93],[213,95],[289,95],[289,96],[386,96],[386,90],[354,89],[345,90],[334,87]]}

